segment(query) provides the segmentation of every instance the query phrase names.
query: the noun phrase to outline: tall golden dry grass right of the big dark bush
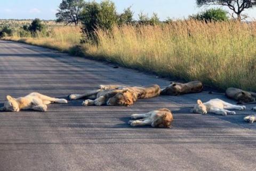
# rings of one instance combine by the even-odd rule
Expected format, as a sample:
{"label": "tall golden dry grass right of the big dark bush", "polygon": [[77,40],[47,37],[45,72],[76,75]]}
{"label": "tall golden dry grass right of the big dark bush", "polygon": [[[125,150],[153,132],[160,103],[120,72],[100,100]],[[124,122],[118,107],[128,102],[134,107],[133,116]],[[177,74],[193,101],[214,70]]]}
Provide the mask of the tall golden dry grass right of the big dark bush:
{"label": "tall golden dry grass right of the big dark bush", "polygon": [[98,31],[87,53],[127,67],[201,80],[225,89],[256,90],[256,24],[179,21]]}

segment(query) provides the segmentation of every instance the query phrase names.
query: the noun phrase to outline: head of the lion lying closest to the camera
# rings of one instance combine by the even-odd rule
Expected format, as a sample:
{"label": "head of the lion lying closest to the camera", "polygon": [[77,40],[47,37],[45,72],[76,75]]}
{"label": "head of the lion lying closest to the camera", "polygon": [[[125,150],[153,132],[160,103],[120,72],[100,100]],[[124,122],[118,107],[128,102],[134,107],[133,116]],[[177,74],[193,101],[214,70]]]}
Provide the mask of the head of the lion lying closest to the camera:
{"label": "head of the lion lying closest to the camera", "polygon": [[164,114],[156,114],[156,119],[151,124],[152,127],[170,127],[173,121],[173,117],[171,113],[164,113]]}

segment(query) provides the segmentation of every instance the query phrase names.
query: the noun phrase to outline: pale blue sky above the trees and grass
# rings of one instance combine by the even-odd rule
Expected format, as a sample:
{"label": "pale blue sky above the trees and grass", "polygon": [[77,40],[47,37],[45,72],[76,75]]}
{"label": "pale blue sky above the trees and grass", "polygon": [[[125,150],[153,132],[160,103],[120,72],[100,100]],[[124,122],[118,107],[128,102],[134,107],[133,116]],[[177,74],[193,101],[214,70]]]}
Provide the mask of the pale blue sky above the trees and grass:
{"label": "pale blue sky above the trees and grass", "polygon": [[[0,19],[55,19],[55,13],[61,0],[0,0]],[[97,0],[100,2],[100,0]],[[117,11],[132,6],[134,18],[138,13],[156,12],[161,20],[186,18],[188,15],[204,10],[198,8],[195,0],[114,0]],[[256,18],[256,8],[247,10],[251,19]]]}

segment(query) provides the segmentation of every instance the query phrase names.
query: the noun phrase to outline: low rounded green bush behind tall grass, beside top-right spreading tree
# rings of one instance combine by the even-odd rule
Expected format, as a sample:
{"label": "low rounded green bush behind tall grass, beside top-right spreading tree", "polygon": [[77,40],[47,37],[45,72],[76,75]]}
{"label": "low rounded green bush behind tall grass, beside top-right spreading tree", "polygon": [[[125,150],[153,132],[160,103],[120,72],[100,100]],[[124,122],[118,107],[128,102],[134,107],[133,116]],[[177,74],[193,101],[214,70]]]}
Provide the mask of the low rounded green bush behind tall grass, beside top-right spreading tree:
{"label": "low rounded green bush behind tall grass, beside top-right spreading tree", "polygon": [[189,16],[189,19],[200,21],[227,21],[228,13],[221,8],[212,8],[196,15]]}

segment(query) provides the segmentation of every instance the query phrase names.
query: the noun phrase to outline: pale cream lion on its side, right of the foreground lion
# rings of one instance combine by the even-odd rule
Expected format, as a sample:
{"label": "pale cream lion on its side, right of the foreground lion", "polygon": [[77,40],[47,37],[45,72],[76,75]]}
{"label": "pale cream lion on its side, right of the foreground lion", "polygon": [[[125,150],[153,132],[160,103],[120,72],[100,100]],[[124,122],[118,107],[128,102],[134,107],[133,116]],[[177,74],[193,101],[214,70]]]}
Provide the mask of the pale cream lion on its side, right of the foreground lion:
{"label": "pale cream lion on its side, right of the foreground lion", "polygon": [[190,112],[198,114],[214,113],[218,115],[236,114],[234,111],[229,111],[227,109],[245,110],[246,107],[232,105],[220,99],[212,99],[204,103],[201,100],[197,100],[196,106],[193,109],[191,109]]}

